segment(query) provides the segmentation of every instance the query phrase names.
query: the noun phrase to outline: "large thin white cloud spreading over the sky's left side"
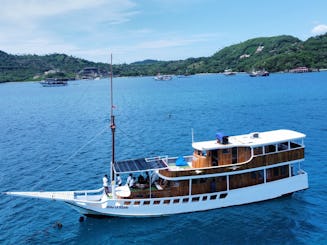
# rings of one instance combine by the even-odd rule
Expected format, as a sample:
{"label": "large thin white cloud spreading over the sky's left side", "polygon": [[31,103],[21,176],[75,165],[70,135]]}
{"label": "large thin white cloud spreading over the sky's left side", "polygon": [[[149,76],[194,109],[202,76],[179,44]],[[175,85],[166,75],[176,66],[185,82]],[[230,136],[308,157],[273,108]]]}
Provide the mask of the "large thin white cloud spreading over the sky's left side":
{"label": "large thin white cloud spreading over the sky's left side", "polygon": [[138,14],[135,6],[131,0],[1,0],[0,49],[78,56],[94,49],[99,54],[99,43],[115,36],[113,26]]}

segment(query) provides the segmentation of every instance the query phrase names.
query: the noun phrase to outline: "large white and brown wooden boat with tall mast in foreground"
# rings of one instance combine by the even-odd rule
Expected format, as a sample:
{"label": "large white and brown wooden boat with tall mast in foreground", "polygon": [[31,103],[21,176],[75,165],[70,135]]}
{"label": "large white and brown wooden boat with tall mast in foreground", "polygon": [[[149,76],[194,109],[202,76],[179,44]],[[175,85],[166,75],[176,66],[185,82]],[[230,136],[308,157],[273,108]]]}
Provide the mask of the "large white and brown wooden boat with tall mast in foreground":
{"label": "large white and brown wooden boat with tall mast in foreground", "polygon": [[[110,81],[112,88],[112,76]],[[62,201],[86,216],[155,217],[266,201],[309,187],[301,167],[303,133],[289,129],[235,136],[217,133],[209,141],[195,142],[192,137],[189,155],[116,160],[113,108],[111,89],[108,186],[5,194]]]}

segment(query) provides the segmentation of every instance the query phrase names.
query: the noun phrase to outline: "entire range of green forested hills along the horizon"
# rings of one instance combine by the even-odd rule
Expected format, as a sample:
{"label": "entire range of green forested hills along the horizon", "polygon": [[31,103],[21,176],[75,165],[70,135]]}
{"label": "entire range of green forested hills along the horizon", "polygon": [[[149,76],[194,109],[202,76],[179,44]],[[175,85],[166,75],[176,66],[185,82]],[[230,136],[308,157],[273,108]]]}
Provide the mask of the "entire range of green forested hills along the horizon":
{"label": "entire range of green forested hills along the horizon", "polygon": [[[262,37],[225,47],[210,57],[179,61],[145,60],[114,65],[118,76],[195,74],[207,72],[251,71],[266,69],[285,71],[298,66],[327,68],[327,34],[301,41],[292,36]],[[65,54],[10,55],[0,51],[0,82],[40,80],[49,76],[75,78],[85,67],[95,67],[107,74],[108,64],[95,63]]]}

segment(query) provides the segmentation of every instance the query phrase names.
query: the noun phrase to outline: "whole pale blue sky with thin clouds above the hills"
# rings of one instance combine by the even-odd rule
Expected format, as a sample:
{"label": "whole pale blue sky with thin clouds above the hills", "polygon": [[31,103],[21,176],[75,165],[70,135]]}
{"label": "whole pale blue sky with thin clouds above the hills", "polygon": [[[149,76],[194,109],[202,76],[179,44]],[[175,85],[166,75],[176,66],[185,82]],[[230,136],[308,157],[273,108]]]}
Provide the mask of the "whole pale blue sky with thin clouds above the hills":
{"label": "whole pale blue sky with thin clouds above the hills", "polygon": [[326,0],[0,0],[0,50],[114,64],[208,57],[250,38],[327,32]]}

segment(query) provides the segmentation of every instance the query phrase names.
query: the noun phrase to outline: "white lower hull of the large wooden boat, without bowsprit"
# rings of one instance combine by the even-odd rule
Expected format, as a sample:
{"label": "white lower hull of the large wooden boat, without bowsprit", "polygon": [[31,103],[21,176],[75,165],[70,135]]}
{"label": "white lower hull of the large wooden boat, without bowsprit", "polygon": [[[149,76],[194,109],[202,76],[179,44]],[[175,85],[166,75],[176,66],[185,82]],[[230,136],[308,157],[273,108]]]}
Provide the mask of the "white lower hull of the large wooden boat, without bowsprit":
{"label": "white lower hull of the large wooden boat, without bowsprit", "polygon": [[[67,201],[84,215],[152,217],[249,204],[278,198],[308,188],[307,173],[265,184],[193,196],[152,199],[102,199],[100,202]],[[227,195],[226,195],[227,194]],[[214,198],[216,196],[216,198]],[[183,199],[188,199],[183,202]],[[164,203],[166,200],[166,203]],[[167,200],[170,200],[169,204]],[[174,202],[174,200],[176,200]],[[179,200],[177,202],[177,200]],[[128,202],[128,204],[127,204]],[[137,204],[135,204],[135,202]],[[148,202],[145,204],[145,202]],[[156,203],[155,203],[156,202]]]}

